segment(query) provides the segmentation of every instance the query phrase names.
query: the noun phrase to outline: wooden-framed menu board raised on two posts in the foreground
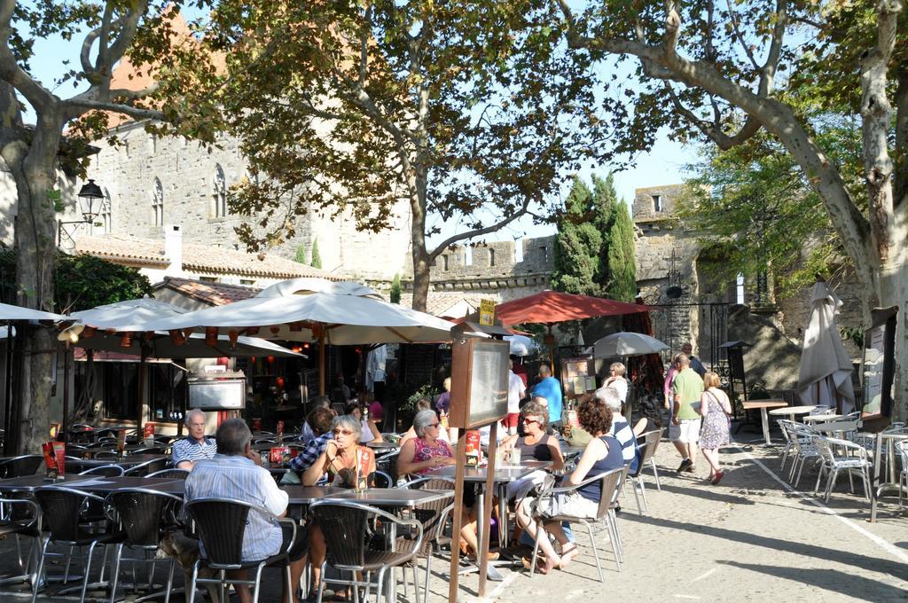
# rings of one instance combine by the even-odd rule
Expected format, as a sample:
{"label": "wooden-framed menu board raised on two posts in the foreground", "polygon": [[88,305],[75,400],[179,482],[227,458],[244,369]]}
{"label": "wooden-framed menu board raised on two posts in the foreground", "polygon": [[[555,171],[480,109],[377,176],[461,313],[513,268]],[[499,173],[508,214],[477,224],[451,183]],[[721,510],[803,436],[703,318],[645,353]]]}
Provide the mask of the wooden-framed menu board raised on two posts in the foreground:
{"label": "wooden-framed menu board raised on two posts in the foreground", "polygon": [[508,341],[454,341],[449,424],[474,429],[508,414]]}

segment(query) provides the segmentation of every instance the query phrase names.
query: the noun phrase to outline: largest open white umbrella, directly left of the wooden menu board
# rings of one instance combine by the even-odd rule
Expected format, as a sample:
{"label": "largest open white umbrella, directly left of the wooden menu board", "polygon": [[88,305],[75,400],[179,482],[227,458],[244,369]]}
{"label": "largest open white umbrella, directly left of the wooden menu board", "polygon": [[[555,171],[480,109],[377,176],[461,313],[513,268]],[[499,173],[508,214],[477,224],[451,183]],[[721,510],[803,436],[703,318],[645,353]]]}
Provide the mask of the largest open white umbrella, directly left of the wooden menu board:
{"label": "largest open white umbrella, directly left of the wooden menu board", "polygon": [[[355,282],[292,279],[249,300],[188,312],[162,321],[128,327],[130,331],[173,331],[202,327],[283,341],[320,341],[334,345],[450,341],[453,323],[425,312],[382,301]],[[324,393],[324,347],[320,346],[320,393]]]}

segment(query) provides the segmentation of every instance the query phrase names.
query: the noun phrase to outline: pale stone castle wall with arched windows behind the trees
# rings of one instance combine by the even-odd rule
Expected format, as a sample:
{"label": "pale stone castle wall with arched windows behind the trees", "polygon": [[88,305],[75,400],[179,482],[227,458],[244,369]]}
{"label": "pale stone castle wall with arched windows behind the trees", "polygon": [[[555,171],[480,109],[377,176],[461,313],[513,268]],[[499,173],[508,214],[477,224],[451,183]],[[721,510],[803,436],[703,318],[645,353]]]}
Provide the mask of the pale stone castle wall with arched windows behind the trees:
{"label": "pale stone castle wall with arched windows behind the trees", "polygon": [[[209,150],[183,138],[153,136],[144,131],[143,124],[125,124],[117,135],[122,142],[119,146],[96,143],[101,152],[88,168],[88,177],[109,194],[111,206],[107,230],[97,226],[93,234],[116,232],[161,239],[162,226],[154,225],[153,212],[155,187],[160,182],[163,223],[181,225],[188,242],[241,248],[233,229],[248,219],[217,215],[215,203],[218,166],[228,188],[248,177],[237,139],[222,137],[219,148]],[[401,202],[393,212],[393,228],[372,233],[357,231],[350,212],[330,216],[312,211],[293,218],[296,236],[268,252],[292,258],[302,245],[311,259],[311,247],[317,240],[323,270],[351,278],[390,279],[409,263],[410,246],[409,205]]]}

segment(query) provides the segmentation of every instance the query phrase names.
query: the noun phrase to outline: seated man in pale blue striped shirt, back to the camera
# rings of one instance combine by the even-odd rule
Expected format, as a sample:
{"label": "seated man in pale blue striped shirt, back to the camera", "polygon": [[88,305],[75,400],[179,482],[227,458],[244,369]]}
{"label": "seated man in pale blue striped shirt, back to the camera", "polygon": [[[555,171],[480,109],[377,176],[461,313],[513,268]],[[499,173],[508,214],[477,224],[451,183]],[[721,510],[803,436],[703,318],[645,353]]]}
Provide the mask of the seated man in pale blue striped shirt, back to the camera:
{"label": "seated man in pale blue striped shirt, back to the camera", "polygon": [[[279,489],[271,473],[262,469],[262,455],[252,450],[252,433],[242,419],[225,420],[217,431],[218,453],[211,460],[200,460],[186,478],[186,502],[209,497],[237,499],[268,509],[283,517],[287,512],[287,493]],[[290,544],[291,529],[270,521],[262,513],[250,510],[242,536],[242,560],[259,561],[277,555]],[[309,537],[297,529],[293,547],[288,552],[291,559],[291,593],[300,585],[305,568],[306,547]],[[201,550],[204,555],[204,550]],[[232,578],[246,579],[246,571],[238,570]],[[236,585],[242,603],[250,603],[249,587]],[[284,601],[287,601],[284,593]],[[296,598],[291,594],[291,600]]]}

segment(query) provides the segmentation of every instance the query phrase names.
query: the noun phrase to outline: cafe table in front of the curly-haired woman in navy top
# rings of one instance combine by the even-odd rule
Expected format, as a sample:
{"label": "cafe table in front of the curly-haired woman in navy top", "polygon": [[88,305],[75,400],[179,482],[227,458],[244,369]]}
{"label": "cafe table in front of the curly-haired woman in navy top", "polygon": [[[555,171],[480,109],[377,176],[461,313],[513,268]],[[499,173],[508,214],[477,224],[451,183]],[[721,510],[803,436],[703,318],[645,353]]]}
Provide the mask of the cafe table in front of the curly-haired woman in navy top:
{"label": "cafe table in front of the curly-haired woman in navy top", "polygon": [[[508,546],[508,484],[518,479],[527,477],[536,470],[546,470],[552,466],[550,460],[524,460],[519,465],[503,464],[495,467],[492,472],[492,483],[498,490],[498,542],[502,548]],[[431,470],[425,474],[426,477],[441,477],[454,479],[457,467],[449,465],[437,470]],[[477,484],[476,489],[476,516],[479,518],[477,525],[477,544],[479,550],[482,550],[482,535],[485,533],[485,526],[481,525],[482,520],[486,517],[485,511],[485,492],[483,491],[486,483],[486,476],[489,472],[489,466],[485,467],[465,467],[463,480],[466,483]],[[503,524],[503,525],[502,525]],[[479,551],[476,554],[477,564],[479,564]],[[477,565],[479,568],[479,565]],[[491,563],[488,566],[487,577],[490,580],[501,581],[501,574]]]}

